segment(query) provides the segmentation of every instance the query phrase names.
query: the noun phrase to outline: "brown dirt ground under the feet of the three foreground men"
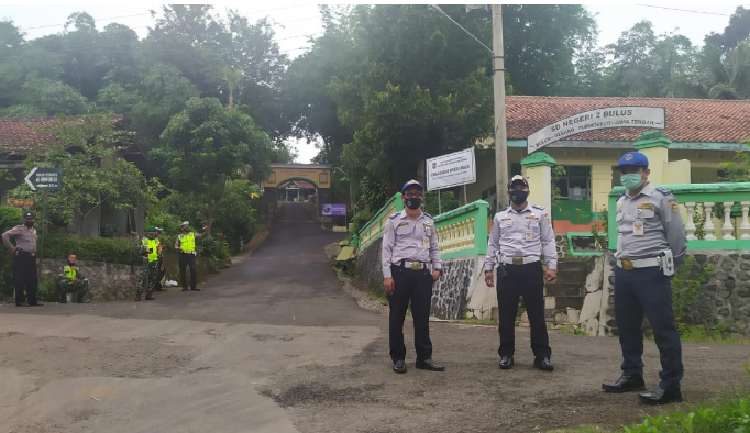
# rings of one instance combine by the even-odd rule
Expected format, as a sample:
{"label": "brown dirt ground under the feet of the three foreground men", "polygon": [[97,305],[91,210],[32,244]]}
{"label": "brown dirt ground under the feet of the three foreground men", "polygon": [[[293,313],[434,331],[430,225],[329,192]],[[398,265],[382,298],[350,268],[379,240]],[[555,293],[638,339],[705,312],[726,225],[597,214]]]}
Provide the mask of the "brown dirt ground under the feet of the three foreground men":
{"label": "brown dirt ground under the feet of the three foreground men", "polygon": [[[284,407],[305,433],[528,433],[582,424],[619,428],[677,409],[642,406],[632,393],[600,392],[602,381],[614,380],[620,373],[616,338],[551,331],[556,369],[550,374],[533,368],[528,330],[516,331],[516,367],[499,370],[496,329],[434,322],[430,329],[434,358],[446,366],[445,373],[413,367],[413,332],[407,322],[406,375],[390,370],[384,334],[344,366],[291,371],[275,377],[263,392]],[[741,368],[747,347],[684,347],[683,408],[731,396],[734,382],[750,385]],[[707,363],[709,358],[713,360]],[[647,342],[644,362],[647,385],[653,387],[659,379],[659,355],[652,342]]]}

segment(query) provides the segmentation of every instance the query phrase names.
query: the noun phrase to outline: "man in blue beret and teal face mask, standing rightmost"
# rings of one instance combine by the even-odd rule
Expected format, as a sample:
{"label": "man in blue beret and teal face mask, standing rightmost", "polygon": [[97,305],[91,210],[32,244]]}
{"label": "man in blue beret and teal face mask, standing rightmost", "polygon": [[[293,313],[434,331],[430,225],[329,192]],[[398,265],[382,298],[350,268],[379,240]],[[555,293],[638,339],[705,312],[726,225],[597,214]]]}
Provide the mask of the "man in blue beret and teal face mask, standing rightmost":
{"label": "man in blue beret and teal face mask, standing rightmost", "polygon": [[617,168],[626,192],[617,200],[617,267],[615,319],[622,348],[622,376],[602,384],[605,392],[644,391],[643,314],[653,327],[662,370],[651,392],[638,392],[650,404],[682,401],[683,375],[680,333],[674,324],[670,277],[684,263],[687,237],[677,200],[670,190],[649,182],[649,160],[628,152]]}

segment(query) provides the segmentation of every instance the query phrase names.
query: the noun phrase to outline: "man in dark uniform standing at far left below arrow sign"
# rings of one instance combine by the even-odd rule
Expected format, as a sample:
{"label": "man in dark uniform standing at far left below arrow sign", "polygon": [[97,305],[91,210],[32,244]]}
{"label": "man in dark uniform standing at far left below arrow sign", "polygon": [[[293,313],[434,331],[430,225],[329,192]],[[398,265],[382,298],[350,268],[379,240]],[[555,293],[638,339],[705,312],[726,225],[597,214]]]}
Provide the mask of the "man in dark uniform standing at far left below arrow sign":
{"label": "man in dark uniform standing at far left below arrow sign", "polygon": [[[36,273],[36,218],[32,212],[23,213],[23,225],[16,225],[2,234],[2,242],[13,254],[13,279],[15,280],[15,307],[42,306],[36,299],[38,275]],[[15,246],[11,243],[15,242]],[[29,303],[23,289],[26,289]]]}

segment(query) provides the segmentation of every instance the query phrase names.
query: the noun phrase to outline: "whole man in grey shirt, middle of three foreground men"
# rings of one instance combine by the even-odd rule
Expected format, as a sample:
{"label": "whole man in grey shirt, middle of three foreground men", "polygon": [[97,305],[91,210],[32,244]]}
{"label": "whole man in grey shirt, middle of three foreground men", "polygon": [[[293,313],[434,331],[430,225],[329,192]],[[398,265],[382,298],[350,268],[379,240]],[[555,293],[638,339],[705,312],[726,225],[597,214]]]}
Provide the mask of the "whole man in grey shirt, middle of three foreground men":
{"label": "whole man in grey shirt, middle of three foreground men", "polygon": [[[500,347],[497,353],[500,355],[500,368],[506,370],[514,366],[518,298],[523,296],[531,325],[533,366],[552,371],[552,349],[544,320],[544,281],[554,281],[558,277],[554,232],[544,208],[527,202],[529,182],[522,176],[510,179],[508,195],[510,207],[493,218],[484,273],[485,282],[492,287],[493,269],[497,266],[497,304],[500,314]],[[542,254],[547,273],[542,269]]]}

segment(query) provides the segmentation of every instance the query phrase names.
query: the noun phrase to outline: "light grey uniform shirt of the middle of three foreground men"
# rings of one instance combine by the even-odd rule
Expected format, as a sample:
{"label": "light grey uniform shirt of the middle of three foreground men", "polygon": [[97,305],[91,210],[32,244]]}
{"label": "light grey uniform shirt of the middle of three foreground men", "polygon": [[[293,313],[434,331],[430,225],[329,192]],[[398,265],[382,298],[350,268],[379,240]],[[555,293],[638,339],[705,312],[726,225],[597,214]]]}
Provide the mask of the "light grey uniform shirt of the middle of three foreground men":
{"label": "light grey uniform shirt of the middle of three foreground men", "polygon": [[[527,235],[527,232],[530,234]],[[487,242],[485,270],[494,270],[503,257],[544,255],[547,268],[558,269],[558,248],[552,223],[544,208],[528,204],[520,211],[511,207],[503,209],[493,218],[493,229]]]}

